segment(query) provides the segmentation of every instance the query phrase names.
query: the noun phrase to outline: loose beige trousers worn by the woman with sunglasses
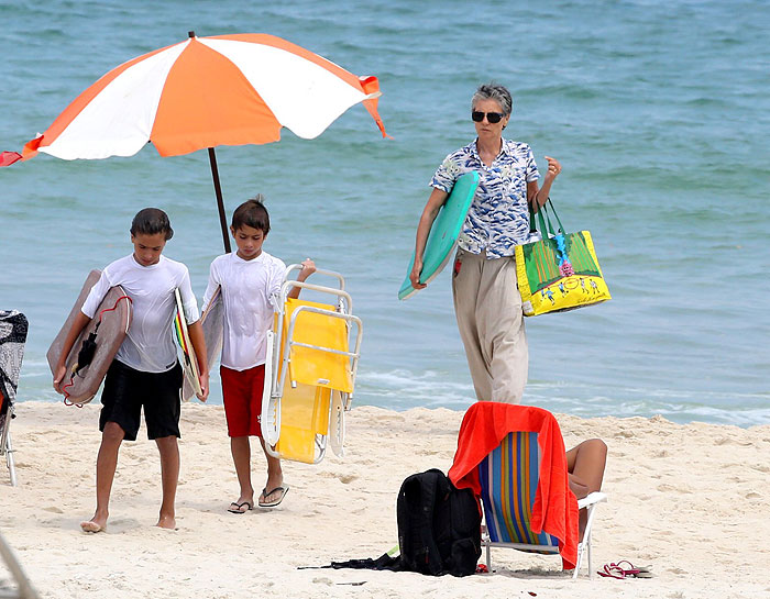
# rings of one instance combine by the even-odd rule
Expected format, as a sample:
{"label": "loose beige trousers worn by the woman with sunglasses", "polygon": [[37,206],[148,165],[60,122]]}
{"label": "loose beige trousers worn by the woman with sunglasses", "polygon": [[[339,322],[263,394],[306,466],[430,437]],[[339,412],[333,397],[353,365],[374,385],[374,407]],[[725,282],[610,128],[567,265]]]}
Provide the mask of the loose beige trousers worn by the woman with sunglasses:
{"label": "loose beige trousers worn by the woman with sunglasses", "polygon": [[515,259],[458,249],[452,293],[476,398],[520,402],[529,350]]}

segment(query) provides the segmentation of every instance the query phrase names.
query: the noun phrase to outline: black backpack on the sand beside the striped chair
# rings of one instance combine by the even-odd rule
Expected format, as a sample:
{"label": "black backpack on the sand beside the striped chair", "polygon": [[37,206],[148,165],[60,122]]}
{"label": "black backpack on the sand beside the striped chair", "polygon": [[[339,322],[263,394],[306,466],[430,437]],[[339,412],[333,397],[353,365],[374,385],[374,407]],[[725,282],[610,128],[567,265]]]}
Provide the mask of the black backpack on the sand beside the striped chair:
{"label": "black backpack on the sand beside the striped chair", "polygon": [[400,569],[433,576],[475,573],[481,510],[471,489],[457,489],[432,468],[406,478],[396,501]]}

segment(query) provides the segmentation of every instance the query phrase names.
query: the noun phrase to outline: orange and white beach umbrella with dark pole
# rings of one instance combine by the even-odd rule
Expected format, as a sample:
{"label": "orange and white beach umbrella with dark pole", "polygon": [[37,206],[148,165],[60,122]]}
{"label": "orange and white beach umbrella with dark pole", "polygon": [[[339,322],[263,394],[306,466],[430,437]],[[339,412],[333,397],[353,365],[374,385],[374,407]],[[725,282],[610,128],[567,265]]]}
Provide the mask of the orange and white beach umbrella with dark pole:
{"label": "orange and white beach umbrella with dark pole", "polygon": [[151,142],[161,156],[208,148],[224,248],[230,252],[215,147],[266,144],[282,127],[320,135],[361,102],[383,136],[376,77],[358,77],[290,42],[266,34],[197,37],[116,67],[87,88],[21,155],[67,160],[132,156]]}

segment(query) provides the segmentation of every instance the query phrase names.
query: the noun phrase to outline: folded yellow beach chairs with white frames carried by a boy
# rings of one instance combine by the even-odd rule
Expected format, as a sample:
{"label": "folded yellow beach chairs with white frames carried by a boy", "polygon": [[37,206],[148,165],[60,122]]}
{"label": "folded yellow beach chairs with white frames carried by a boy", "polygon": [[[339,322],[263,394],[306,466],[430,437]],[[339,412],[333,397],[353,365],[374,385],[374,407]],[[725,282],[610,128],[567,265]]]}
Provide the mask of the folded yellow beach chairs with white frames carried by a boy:
{"label": "folded yellow beach chairs with white frames carried by a boy", "polygon": [[[318,464],[328,443],[344,455],[344,412],[353,398],[363,326],[352,313],[342,275],[316,270],[338,282],[324,287],[290,279],[299,269],[297,264],[286,269],[279,310],[267,334],[262,435],[270,455]],[[334,303],[290,299],[295,287]]]}

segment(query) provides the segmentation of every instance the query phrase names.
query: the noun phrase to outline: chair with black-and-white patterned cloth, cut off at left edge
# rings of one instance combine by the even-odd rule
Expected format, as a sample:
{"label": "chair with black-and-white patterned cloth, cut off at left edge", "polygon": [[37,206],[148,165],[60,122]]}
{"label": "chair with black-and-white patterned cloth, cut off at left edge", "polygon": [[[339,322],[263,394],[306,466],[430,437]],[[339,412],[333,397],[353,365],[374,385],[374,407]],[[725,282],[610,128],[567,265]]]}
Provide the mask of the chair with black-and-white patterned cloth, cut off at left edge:
{"label": "chair with black-and-white patterned cloth, cut off at left edge", "polygon": [[24,356],[29,322],[16,310],[0,310],[0,457],[6,458],[11,486],[16,486],[16,470],[11,443],[13,402]]}

